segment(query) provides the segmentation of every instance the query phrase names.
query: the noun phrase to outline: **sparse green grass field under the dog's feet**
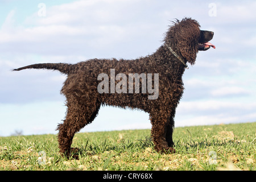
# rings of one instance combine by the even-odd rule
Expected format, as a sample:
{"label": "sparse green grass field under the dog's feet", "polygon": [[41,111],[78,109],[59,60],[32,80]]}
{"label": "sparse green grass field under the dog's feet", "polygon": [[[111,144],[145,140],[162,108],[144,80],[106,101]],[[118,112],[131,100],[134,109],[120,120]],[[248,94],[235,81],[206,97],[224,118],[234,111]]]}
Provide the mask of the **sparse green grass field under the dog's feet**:
{"label": "sparse green grass field under the dog's feet", "polygon": [[175,154],[158,154],[150,130],[78,133],[79,160],[62,158],[56,135],[0,137],[0,170],[255,170],[256,122],[177,127]]}

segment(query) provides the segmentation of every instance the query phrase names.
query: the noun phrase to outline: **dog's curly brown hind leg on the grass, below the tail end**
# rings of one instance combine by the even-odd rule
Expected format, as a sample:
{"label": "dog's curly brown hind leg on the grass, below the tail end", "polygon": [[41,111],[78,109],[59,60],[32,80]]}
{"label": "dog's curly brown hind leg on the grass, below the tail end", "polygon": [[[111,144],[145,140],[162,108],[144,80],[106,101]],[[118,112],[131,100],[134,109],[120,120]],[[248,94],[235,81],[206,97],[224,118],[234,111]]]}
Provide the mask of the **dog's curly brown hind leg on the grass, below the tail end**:
{"label": "dog's curly brown hind leg on the grass, below the tail end", "polygon": [[66,118],[62,124],[57,126],[57,130],[59,130],[58,142],[60,152],[69,157],[75,133],[93,121],[100,109],[100,103],[92,102],[92,100],[90,100],[90,103],[85,103],[74,99],[74,97],[72,99],[67,97],[67,106]]}

